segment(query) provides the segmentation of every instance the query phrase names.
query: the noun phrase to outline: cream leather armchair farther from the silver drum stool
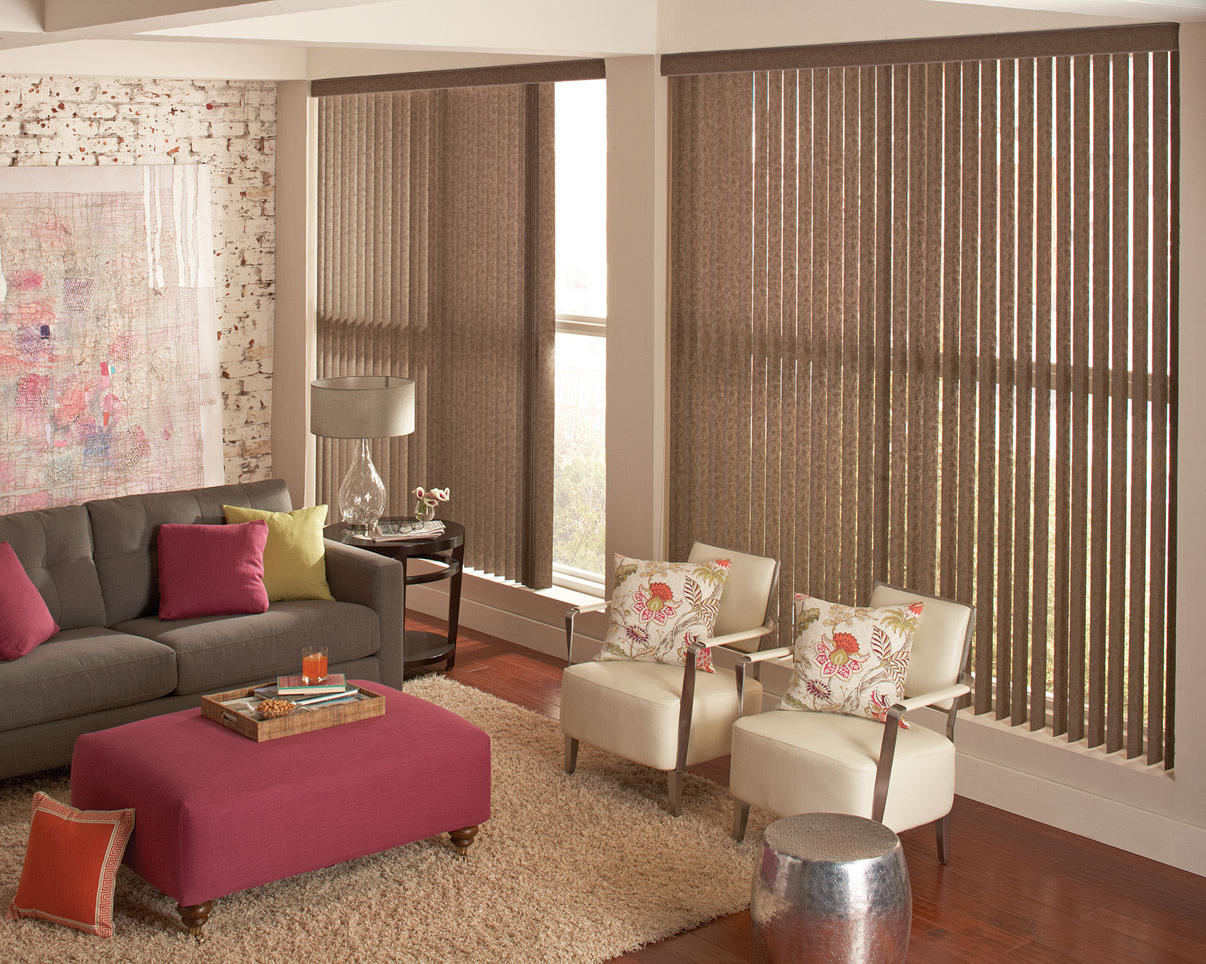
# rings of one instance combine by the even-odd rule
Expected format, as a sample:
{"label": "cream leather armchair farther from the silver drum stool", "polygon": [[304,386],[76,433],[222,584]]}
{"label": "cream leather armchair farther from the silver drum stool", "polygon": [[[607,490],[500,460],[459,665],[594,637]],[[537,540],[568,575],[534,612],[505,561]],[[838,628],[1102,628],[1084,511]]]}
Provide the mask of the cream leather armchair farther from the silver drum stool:
{"label": "cream leather armchair farther from the silver drum stool", "polygon": [[[761,709],[756,681],[738,688],[733,670],[695,669],[704,648],[728,647],[743,656],[774,630],[771,606],[779,564],[761,556],[696,542],[689,562],[726,558],[728,576],[720,595],[716,635],[687,647],[685,666],[611,659],[574,663],[574,617],[602,612],[610,602],[574,607],[566,613],[566,654],[561,677],[561,730],[566,735],[566,772],[578,765],[578,743],[585,740],[655,770],[665,770],[671,811],[683,813],[683,781],[687,766],[728,753],[733,722],[743,706]],[[743,677],[744,677],[743,672]],[[745,701],[743,703],[743,696]]]}

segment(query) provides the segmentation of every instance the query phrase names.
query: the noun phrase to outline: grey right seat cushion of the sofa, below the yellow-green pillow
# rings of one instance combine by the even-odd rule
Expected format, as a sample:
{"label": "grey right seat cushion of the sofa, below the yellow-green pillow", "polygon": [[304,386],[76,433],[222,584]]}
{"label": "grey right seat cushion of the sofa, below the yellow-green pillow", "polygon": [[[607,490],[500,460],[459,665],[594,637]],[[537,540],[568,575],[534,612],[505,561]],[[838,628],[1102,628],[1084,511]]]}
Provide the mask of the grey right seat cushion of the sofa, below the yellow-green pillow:
{"label": "grey right seat cushion of the sofa, below the yellow-green pillow", "polygon": [[209,616],[166,622],[153,616],[116,629],[176,651],[177,693],[215,693],[245,680],[270,680],[302,668],[302,647],[326,646],[330,663],[380,648],[377,615],[353,602],[298,599],[273,602],[254,616]]}

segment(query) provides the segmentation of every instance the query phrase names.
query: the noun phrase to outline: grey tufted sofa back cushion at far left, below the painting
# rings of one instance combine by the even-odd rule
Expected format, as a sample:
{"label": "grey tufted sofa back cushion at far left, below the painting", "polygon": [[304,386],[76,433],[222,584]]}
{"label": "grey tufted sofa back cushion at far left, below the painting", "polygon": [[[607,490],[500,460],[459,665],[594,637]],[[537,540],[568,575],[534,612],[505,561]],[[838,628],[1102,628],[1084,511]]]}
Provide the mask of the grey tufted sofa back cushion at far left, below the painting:
{"label": "grey tufted sofa back cushion at far left, below the painting", "polygon": [[105,625],[105,600],[82,505],[0,516],[0,542],[12,546],[62,629]]}

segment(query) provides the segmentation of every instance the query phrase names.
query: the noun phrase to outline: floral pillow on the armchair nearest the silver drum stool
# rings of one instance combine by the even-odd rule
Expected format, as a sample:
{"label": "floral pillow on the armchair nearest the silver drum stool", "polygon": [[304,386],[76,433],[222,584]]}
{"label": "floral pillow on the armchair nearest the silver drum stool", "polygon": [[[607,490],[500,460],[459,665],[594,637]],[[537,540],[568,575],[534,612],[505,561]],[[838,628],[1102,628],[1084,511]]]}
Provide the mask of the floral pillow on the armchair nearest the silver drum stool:
{"label": "floral pillow on the armchair nearest the silver drum stool", "polygon": [[[795,675],[780,710],[883,721],[904,696],[904,675],[923,602],[842,606],[797,593]],[[908,728],[902,719],[901,725]]]}

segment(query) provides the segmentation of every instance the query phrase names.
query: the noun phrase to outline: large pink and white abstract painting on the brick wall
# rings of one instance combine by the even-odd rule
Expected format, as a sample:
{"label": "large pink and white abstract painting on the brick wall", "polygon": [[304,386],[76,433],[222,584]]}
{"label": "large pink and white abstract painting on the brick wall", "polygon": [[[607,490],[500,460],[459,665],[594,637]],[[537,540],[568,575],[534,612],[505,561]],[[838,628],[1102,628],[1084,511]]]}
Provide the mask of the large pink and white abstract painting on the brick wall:
{"label": "large pink and white abstract painting on the brick wall", "polygon": [[0,513],[222,482],[209,170],[0,170]]}

